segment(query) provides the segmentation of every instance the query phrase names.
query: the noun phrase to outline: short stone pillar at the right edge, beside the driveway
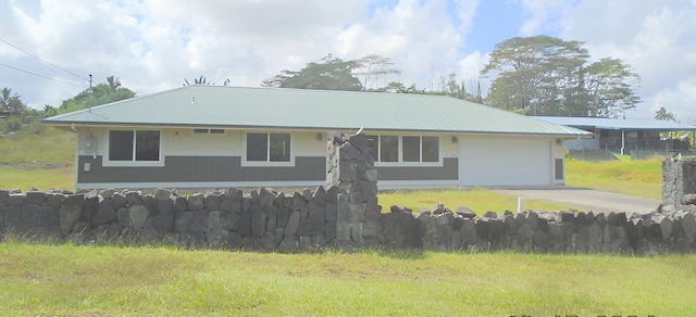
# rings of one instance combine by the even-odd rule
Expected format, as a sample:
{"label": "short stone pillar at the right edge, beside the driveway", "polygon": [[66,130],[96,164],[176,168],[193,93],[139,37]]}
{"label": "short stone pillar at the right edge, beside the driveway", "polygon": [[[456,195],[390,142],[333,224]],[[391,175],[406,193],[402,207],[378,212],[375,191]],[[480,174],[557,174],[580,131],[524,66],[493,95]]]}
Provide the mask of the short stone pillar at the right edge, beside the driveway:
{"label": "short stone pillar at the right edge, beside the driveway", "polygon": [[696,201],[696,160],[662,162],[662,206],[691,205]]}

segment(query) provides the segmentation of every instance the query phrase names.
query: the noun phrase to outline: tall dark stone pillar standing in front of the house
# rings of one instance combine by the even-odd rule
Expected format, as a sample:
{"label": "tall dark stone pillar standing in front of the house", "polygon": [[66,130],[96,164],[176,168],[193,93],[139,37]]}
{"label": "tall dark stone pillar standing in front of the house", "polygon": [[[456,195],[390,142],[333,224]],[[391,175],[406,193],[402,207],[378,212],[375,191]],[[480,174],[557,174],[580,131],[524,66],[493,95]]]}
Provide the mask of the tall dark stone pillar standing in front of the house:
{"label": "tall dark stone pillar standing in front of the house", "polygon": [[376,243],[382,231],[373,142],[363,134],[328,137],[326,182],[338,189],[336,241],[341,246]]}

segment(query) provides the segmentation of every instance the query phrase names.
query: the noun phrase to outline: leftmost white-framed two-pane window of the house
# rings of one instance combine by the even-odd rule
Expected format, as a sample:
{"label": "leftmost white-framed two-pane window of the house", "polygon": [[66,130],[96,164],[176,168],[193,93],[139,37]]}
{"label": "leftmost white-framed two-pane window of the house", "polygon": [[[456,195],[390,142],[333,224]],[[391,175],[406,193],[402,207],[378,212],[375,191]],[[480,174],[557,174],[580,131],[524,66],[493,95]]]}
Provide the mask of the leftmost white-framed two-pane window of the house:
{"label": "leftmost white-framed two-pane window of the house", "polygon": [[160,131],[112,130],[109,131],[109,161],[158,162],[160,161]]}

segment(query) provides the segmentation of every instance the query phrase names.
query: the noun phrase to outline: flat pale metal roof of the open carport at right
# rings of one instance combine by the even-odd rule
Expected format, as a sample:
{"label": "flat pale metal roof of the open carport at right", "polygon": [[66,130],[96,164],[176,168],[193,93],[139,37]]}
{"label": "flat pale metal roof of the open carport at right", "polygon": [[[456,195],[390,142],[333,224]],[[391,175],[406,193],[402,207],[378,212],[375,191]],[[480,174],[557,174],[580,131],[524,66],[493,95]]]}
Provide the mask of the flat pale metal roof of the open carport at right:
{"label": "flat pale metal roof of the open carport at right", "polygon": [[535,116],[548,123],[576,128],[595,128],[604,130],[658,130],[658,131],[695,131],[696,126],[683,125],[671,121],[616,119],[604,117],[564,117]]}

